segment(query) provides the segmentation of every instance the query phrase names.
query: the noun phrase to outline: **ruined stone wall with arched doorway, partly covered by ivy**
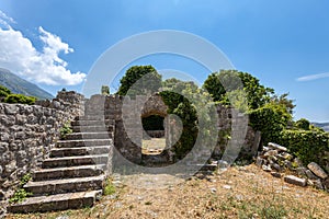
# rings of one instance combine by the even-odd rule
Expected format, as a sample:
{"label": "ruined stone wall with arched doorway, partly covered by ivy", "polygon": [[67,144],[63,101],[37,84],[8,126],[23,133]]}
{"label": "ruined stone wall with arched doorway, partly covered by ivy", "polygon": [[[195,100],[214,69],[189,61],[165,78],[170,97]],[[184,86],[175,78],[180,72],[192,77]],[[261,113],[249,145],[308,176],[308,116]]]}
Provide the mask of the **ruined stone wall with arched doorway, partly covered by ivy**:
{"label": "ruined stone wall with arched doorway, partly covered by ivy", "polygon": [[[104,117],[113,118],[115,120],[114,145],[116,151],[128,161],[139,163],[141,161],[141,139],[147,139],[147,137],[149,137],[147,131],[144,131],[141,128],[140,117],[147,117],[150,115],[160,115],[166,117],[167,110],[168,107],[158,94],[150,96],[137,95],[132,99],[128,96],[104,96],[97,94],[86,101],[84,111],[86,115],[103,114]],[[218,146],[215,148],[213,155],[219,158],[223,155],[225,147],[228,143],[228,138],[226,137],[230,135],[232,124],[235,125],[235,129],[241,129],[242,131],[240,132],[246,135],[239,137],[239,142],[236,142],[237,140],[235,140],[235,142],[231,141],[231,143],[242,145],[242,148],[239,149],[241,150],[240,155],[256,155],[259,146],[257,132],[249,126],[239,127],[239,119],[246,119],[246,117],[241,116],[232,108],[222,105],[217,106],[217,113],[219,118],[217,124],[219,139]],[[245,124],[248,124],[248,122]],[[167,127],[164,130],[164,137],[168,142],[173,138],[170,134],[171,131],[168,131]],[[167,147],[167,150],[170,151],[170,147]],[[172,154],[172,151],[170,151],[170,157],[174,155]],[[166,153],[163,154],[167,155]],[[115,162],[116,161],[114,159],[114,164]]]}

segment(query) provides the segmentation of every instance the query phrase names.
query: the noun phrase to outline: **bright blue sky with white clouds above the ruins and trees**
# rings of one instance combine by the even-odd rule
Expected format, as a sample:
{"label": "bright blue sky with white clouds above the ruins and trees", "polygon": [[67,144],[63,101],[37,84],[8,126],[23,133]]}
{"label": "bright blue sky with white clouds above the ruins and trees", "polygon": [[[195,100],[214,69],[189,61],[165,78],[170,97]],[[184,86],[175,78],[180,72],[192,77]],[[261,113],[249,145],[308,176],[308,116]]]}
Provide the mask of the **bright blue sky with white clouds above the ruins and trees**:
{"label": "bright blue sky with white clouds above the ruins and trees", "polygon": [[[327,122],[328,9],[326,0],[1,0],[0,67],[53,94],[64,87],[80,91],[94,61],[118,41],[184,31],[215,44],[236,69],[277,93],[290,92],[296,118]],[[174,56],[134,64],[183,70],[201,82],[208,73]]]}

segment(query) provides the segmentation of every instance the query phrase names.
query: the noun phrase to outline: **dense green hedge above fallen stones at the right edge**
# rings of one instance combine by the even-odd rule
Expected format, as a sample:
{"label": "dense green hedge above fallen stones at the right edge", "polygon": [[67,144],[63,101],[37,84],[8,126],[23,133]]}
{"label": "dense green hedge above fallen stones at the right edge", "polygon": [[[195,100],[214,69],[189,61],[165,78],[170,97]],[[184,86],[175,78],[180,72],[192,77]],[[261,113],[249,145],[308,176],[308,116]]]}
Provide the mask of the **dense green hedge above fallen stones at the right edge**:
{"label": "dense green hedge above fallen stones at the right edge", "polygon": [[329,158],[329,134],[313,130],[283,130],[281,132],[281,145],[298,157],[305,165],[317,162],[326,166]]}

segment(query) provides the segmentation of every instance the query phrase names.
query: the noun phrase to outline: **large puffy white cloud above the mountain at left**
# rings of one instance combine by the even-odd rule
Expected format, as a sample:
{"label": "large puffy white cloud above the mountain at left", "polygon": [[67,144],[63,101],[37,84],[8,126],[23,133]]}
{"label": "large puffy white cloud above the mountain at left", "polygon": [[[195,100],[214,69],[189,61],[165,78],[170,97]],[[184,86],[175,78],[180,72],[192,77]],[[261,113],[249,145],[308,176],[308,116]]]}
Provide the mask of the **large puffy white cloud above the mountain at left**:
{"label": "large puffy white cloud above the mountain at left", "polygon": [[0,11],[0,23],[7,24],[7,28],[0,26],[0,67],[36,83],[49,85],[75,85],[84,80],[86,73],[71,72],[67,69],[68,64],[59,57],[60,53],[73,53],[60,37],[39,26],[39,39],[44,45],[38,51],[27,37],[13,30],[7,21],[14,22]]}

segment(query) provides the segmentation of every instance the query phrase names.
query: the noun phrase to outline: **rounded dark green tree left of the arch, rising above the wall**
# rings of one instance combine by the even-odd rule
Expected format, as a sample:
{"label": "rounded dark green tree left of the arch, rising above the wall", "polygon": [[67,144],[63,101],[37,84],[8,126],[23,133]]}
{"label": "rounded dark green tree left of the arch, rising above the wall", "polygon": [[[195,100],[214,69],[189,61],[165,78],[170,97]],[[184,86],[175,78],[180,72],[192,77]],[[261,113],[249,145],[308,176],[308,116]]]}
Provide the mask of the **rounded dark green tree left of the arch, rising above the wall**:
{"label": "rounded dark green tree left of the arch, rising above the wall", "polygon": [[[161,76],[152,66],[133,66],[121,79],[118,95],[154,93],[161,87]],[[131,89],[131,90],[129,90]]]}

